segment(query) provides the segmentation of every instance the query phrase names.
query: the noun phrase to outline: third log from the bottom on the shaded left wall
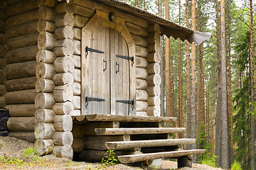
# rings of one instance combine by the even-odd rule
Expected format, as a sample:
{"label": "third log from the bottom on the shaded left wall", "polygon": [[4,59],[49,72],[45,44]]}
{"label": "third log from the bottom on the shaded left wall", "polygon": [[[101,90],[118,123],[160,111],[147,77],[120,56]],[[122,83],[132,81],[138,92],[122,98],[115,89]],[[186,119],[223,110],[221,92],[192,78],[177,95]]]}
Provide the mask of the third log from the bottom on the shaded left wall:
{"label": "third log from the bottom on the shaded left wall", "polygon": [[34,103],[6,105],[5,108],[9,109],[9,114],[11,117],[34,116],[36,111]]}

